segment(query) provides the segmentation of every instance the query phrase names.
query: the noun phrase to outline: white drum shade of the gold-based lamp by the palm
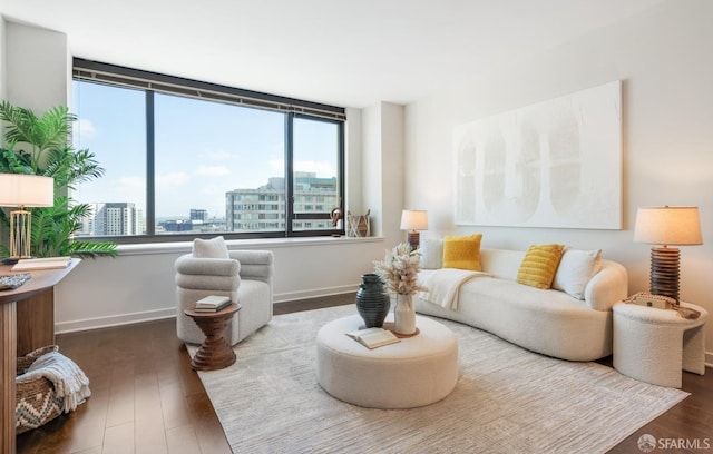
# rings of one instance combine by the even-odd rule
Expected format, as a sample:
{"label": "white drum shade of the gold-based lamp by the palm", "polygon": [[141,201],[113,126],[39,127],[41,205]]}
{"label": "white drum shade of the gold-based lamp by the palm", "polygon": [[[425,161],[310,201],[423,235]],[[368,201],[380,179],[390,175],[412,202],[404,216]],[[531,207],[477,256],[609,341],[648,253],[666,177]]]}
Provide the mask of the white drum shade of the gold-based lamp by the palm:
{"label": "white drum shade of the gold-based lamp by the palm", "polygon": [[0,174],[0,207],[51,207],[55,180],[23,174]]}

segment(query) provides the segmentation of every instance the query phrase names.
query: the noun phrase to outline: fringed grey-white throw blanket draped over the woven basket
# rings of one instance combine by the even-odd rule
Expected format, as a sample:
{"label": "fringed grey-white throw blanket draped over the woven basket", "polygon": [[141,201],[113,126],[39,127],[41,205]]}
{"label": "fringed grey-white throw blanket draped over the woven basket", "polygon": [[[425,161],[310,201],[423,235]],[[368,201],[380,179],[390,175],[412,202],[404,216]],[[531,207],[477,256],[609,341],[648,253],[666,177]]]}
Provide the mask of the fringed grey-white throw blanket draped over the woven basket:
{"label": "fringed grey-white throw blanket draped over the woven basket", "polygon": [[61,353],[52,352],[35,359],[27,372],[18,376],[18,381],[31,382],[38,376],[52,382],[57,397],[64,399],[65,413],[76,409],[77,405],[91,396],[89,378],[74,361]]}

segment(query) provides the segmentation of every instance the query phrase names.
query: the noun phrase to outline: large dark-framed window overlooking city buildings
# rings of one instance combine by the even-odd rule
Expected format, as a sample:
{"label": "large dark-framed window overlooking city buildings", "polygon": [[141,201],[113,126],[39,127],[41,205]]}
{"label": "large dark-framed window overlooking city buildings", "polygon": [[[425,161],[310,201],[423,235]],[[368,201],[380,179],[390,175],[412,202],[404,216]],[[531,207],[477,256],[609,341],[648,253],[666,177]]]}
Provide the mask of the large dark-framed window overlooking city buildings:
{"label": "large dark-framed window overlooking city buildings", "polygon": [[329,235],[343,213],[344,109],[75,60],[75,146],[106,176],[81,236]]}

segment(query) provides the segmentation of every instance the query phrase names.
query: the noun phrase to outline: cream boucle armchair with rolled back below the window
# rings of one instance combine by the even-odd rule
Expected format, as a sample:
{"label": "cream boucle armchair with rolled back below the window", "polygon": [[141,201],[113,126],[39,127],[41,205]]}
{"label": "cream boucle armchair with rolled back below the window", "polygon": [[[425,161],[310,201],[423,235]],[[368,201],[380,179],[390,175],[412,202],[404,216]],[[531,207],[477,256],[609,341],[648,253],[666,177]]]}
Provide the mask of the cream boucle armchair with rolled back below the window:
{"label": "cream boucle armchair with rolled back below the window", "polygon": [[193,254],[176,259],[176,330],[184,342],[202,344],[205,339],[184,310],[208,295],[229,296],[242,306],[225,334],[229,345],[243,340],[272,319],[272,251],[226,249],[226,254],[224,258],[196,257],[194,247]]}

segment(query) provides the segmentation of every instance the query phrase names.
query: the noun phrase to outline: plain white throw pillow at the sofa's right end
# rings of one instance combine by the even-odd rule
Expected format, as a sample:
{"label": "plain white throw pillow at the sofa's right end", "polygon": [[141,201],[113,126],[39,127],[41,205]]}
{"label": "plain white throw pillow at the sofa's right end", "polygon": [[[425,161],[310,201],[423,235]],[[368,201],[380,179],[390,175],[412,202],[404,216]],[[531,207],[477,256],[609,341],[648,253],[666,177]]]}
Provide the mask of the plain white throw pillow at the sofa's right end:
{"label": "plain white throw pillow at the sofa's right end", "polygon": [[566,292],[577,299],[584,299],[584,289],[592,277],[602,269],[602,249],[565,250],[557,267],[553,288]]}

